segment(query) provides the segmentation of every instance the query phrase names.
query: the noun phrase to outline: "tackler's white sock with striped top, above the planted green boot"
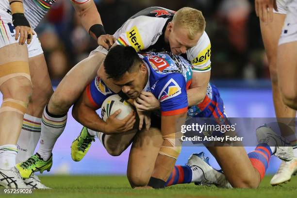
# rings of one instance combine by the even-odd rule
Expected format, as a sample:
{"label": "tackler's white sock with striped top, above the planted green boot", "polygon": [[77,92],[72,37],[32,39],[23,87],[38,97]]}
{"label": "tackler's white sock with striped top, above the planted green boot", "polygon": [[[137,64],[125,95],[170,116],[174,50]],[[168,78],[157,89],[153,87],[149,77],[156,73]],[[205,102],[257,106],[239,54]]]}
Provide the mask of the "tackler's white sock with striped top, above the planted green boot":
{"label": "tackler's white sock with striped top, above the planted green boot", "polygon": [[67,115],[63,117],[52,117],[49,116],[46,109],[47,107],[44,109],[42,115],[40,145],[37,153],[43,160],[48,161],[58,137],[65,129]]}

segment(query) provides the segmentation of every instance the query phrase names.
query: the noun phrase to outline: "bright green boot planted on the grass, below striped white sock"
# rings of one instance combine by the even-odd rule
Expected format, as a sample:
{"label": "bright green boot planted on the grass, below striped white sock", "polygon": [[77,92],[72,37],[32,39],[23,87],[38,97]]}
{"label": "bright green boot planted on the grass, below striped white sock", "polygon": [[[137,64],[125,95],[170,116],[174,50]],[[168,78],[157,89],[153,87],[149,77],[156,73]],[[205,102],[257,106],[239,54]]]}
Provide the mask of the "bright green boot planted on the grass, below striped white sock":
{"label": "bright green boot planted on the grass, below striped white sock", "polygon": [[49,172],[51,166],[52,166],[52,156],[50,156],[48,161],[44,161],[38,153],[31,156],[25,162],[16,164],[16,168],[18,169],[20,175],[24,179],[30,178],[30,176],[34,172],[43,173],[43,171],[45,170]]}

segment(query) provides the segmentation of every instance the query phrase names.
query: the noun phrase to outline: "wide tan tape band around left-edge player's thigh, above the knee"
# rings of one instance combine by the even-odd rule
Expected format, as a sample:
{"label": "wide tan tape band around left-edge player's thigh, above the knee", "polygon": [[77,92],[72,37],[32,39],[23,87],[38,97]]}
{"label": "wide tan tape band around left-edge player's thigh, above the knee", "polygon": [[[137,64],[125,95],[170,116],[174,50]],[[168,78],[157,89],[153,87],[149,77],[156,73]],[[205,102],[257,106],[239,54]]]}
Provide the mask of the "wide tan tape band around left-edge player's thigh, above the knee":
{"label": "wide tan tape band around left-edge player's thigh, above the knee", "polygon": [[17,76],[23,76],[31,82],[28,62],[15,61],[0,65],[0,85]]}

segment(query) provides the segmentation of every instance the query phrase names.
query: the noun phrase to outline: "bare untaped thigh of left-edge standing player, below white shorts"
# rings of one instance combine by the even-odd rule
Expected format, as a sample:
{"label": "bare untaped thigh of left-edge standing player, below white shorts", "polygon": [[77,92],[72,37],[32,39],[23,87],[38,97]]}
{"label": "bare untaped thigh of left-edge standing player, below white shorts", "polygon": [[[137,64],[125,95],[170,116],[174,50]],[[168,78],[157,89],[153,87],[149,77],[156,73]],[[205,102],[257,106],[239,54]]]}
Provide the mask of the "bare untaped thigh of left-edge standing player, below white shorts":
{"label": "bare untaped thigh of left-edge standing player, below white shorts", "polygon": [[44,54],[41,53],[29,58],[29,67],[33,84],[32,101],[38,99],[48,100],[53,90]]}

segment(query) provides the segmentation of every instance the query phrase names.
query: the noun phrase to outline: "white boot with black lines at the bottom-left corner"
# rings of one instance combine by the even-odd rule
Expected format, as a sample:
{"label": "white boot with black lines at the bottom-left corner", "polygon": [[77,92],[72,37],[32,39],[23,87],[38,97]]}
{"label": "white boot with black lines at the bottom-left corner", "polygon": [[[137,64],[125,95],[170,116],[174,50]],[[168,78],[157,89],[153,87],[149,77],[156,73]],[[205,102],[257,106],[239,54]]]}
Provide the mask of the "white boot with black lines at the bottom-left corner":
{"label": "white boot with black lines at the bottom-left corner", "polygon": [[30,188],[21,178],[18,170],[12,167],[10,170],[0,169],[0,186],[5,188]]}

